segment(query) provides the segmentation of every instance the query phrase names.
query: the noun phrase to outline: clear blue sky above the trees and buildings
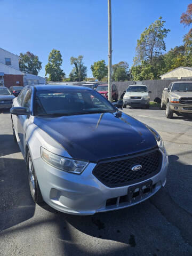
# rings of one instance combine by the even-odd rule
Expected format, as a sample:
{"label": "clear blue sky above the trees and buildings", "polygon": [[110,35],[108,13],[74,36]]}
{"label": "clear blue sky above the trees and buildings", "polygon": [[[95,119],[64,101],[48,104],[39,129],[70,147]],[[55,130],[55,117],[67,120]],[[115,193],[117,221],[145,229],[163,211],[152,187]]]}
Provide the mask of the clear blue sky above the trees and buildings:
{"label": "clear blue sky above the trees and buildings", "polygon": [[[187,0],[111,0],[113,63],[127,61],[131,67],[137,39],[160,16],[171,32],[165,39],[167,51],[182,44],[189,28],[180,24]],[[0,0],[0,47],[18,54],[33,52],[42,61],[39,75],[54,48],[62,54],[62,69],[73,68],[70,57],[84,55],[87,76],[90,66],[108,54],[107,0]]]}

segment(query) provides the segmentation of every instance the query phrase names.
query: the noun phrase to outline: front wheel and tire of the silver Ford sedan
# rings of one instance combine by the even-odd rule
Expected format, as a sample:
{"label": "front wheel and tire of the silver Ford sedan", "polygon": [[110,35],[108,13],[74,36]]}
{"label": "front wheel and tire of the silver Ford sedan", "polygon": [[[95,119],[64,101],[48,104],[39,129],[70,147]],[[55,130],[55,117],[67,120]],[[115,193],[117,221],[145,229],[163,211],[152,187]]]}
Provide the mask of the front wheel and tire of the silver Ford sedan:
{"label": "front wheel and tire of the silver Ford sedan", "polygon": [[29,188],[30,188],[31,197],[33,198],[33,201],[35,203],[37,203],[37,204],[42,203],[43,197],[42,197],[39,185],[38,185],[35,169],[34,169],[33,162],[32,162],[29,151],[27,154],[27,170],[28,170],[28,180],[29,180]]}

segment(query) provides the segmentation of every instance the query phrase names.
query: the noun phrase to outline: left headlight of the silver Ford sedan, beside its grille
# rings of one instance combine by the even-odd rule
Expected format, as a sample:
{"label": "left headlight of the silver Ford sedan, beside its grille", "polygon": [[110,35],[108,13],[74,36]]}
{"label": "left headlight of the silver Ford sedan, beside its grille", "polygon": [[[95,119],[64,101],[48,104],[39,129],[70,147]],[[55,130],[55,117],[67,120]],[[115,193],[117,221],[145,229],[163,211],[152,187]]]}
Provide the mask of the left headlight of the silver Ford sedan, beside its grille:
{"label": "left headlight of the silver Ford sedan, beside its grille", "polygon": [[51,153],[41,147],[41,157],[47,163],[62,171],[80,174],[84,171],[89,162],[79,161]]}

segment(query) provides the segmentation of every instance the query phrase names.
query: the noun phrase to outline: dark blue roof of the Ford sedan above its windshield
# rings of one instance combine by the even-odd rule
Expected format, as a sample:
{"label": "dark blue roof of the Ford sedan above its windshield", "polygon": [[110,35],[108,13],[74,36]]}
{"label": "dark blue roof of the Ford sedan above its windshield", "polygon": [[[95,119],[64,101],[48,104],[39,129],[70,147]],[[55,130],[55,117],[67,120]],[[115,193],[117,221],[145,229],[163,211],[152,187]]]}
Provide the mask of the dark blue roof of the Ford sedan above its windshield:
{"label": "dark blue roof of the Ford sedan above its windshield", "polygon": [[58,84],[44,84],[44,85],[34,85],[26,87],[35,87],[37,91],[47,91],[47,90],[91,90],[88,87],[79,85],[58,85]]}

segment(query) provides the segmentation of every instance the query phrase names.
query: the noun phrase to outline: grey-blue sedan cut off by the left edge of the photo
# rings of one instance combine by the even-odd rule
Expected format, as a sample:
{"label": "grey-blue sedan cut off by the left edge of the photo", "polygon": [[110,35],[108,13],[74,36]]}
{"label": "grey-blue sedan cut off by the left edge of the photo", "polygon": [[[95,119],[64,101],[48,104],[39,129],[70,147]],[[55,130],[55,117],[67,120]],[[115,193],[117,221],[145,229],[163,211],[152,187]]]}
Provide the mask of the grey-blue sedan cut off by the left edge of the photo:
{"label": "grey-blue sedan cut off by the left edge of the photo", "polygon": [[0,109],[11,108],[14,98],[7,87],[0,86]]}

